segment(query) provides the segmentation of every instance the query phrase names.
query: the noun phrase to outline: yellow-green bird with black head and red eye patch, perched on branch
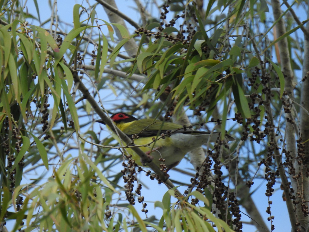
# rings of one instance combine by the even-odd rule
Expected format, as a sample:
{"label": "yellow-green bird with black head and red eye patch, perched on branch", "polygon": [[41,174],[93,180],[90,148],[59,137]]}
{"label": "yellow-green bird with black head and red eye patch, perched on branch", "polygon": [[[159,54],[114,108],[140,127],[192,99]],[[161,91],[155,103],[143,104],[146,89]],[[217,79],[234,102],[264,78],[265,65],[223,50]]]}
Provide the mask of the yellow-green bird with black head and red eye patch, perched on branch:
{"label": "yellow-green bird with black head and red eye patch, perched on branch", "polygon": [[[176,123],[149,118],[138,120],[123,112],[113,114],[111,119],[122,132],[133,138],[134,144],[149,144],[139,148],[156,165],[161,164],[162,167],[164,164],[166,172],[178,165],[188,152],[220,137],[220,132],[194,131]],[[96,122],[106,125],[102,119]],[[227,141],[235,140],[230,135],[225,138]],[[147,165],[132,149],[127,148],[127,152],[138,165]]]}

